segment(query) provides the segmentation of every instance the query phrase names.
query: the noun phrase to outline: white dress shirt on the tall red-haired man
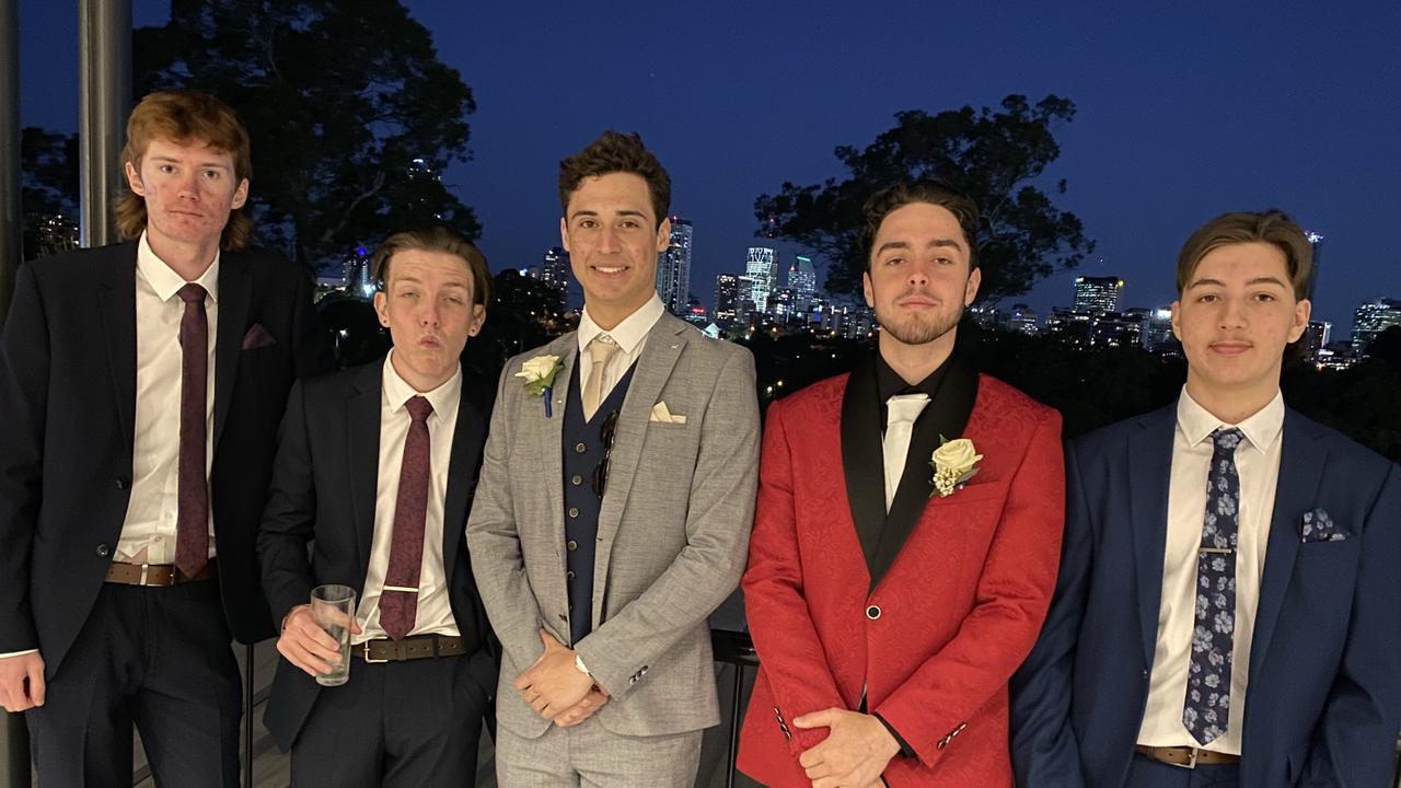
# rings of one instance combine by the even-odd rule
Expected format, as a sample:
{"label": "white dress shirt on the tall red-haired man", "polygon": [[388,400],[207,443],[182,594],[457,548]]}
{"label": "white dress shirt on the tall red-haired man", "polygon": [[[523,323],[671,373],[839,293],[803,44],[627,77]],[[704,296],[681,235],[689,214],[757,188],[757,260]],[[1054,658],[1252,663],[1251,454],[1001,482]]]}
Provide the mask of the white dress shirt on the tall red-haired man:
{"label": "white dress shirt on the tall red-haired man", "polygon": [[[136,423],[132,439],[132,496],[116,543],[116,561],[171,564],[175,561],[175,520],[179,513],[179,321],[186,285],[156,257],[146,233],[136,245]],[[219,334],[219,252],[195,280],[205,287],[209,318],[209,362],[205,387],[205,478],[214,451],[214,337]],[[210,509],[209,557],[214,557]]]}

